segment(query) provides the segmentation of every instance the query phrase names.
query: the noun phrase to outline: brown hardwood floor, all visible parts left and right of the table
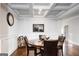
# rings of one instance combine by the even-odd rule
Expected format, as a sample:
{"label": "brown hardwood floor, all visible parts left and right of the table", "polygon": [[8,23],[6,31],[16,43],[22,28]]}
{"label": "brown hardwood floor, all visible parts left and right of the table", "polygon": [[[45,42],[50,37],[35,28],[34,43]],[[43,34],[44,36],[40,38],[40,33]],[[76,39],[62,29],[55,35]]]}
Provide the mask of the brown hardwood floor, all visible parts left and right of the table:
{"label": "brown hardwood floor, all visible parts left and right of the table", "polygon": [[[65,42],[63,48],[64,56],[79,56],[79,46]],[[27,56],[25,47],[18,48],[11,56]],[[34,56],[34,51],[30,51],[29,56]]]}

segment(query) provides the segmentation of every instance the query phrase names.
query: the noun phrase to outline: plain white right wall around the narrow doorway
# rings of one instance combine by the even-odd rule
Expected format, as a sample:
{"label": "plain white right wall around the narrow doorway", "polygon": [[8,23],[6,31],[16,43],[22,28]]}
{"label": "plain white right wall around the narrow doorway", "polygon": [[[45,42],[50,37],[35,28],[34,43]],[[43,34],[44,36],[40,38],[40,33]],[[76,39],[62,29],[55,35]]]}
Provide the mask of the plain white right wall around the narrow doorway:
{"label": "plain white right wall around the narrow doorway", "polygon": [[68,25],[68,32],[69,32],[69,40],[75,44],[79,45],[79,15],[64,19],[63,20],[63,30],[64,26]]}

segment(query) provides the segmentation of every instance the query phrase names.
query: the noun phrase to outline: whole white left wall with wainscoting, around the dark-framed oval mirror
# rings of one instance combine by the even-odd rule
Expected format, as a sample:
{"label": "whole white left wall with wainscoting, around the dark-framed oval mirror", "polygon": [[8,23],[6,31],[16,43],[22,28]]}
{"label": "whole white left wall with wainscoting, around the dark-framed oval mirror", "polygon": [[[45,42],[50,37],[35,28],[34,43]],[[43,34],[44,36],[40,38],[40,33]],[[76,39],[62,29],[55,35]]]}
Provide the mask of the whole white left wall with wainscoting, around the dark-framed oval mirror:
{"label": "whole white left wall with wainscoting, around the dark-framed oval mirror", "polygon": [[[9,55],[17,48],[17,18],[16,14],[7,6],[1,4],[0,15],[0,40],[1,40],[1,53],[8,53]],[[10,12],[14,16],[14,25],[9,26],[7,23],[7,13]]]}

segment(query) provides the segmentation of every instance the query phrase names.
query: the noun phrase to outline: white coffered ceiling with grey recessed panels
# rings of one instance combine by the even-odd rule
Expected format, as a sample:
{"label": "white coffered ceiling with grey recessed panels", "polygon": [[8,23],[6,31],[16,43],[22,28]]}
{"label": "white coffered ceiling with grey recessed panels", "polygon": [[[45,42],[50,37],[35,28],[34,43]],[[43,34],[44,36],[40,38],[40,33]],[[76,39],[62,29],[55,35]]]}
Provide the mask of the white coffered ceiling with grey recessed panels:
{"label": "white coffered ceiling with grey recessed panels", "polygon": [[75,7],[76,3],[9,3],[8,6],[20,17],[56,18]]}

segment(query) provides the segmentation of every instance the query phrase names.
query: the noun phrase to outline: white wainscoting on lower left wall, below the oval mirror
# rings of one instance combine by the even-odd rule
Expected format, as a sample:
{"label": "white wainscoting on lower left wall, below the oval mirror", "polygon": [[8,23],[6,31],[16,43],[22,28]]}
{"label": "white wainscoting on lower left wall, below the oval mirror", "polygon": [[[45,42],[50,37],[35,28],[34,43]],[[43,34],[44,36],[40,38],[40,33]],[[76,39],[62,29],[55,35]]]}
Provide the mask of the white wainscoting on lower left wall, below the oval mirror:
{"label": "white wainscoting on lower left wall, below the oval mirror", "polygon": [[0,42],[0,53],[11,55],[17,49],[17,34],[2,34]]}

